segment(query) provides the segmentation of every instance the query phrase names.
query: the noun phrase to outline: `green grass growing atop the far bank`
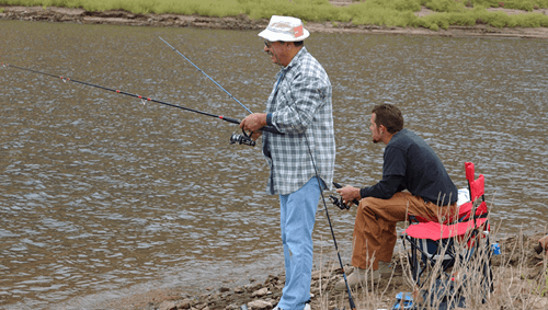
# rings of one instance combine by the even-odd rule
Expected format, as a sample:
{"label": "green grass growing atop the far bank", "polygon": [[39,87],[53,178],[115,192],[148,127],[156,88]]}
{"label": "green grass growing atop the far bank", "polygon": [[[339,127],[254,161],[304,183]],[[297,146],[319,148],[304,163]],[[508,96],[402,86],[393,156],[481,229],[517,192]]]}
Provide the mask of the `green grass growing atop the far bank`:
{"label": "green grass growing atop the far bank", "polygon": [[[133,13],[176,13],[204,16],[249,15],[270,19],[293,15],[305,22],[352,22],[355,25],[448,28],[449,25],[488,24],[493,27],[548,27],[540,13],[507,15],[487,8],[533,11],[548,8],[548,0],[363,0],[334,7],[328,0],[0,0],[0,4],[82,8],[88,11],[126,10]],[[436,13],[418,18],[421,5]]]}

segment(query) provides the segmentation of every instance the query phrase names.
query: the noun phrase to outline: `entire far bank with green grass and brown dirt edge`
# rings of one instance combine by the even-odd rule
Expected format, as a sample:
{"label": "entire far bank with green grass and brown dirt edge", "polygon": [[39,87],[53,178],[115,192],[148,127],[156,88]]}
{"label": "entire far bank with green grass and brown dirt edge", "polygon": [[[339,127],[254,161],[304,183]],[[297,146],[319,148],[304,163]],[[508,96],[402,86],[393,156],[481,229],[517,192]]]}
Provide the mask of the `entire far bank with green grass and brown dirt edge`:
{"label": "entire far bank with green grass and brown dirt edge", "polygon": [[312,33],[548,38],[548,0],[0,0],[0,20],[261,30],[273,14]]}

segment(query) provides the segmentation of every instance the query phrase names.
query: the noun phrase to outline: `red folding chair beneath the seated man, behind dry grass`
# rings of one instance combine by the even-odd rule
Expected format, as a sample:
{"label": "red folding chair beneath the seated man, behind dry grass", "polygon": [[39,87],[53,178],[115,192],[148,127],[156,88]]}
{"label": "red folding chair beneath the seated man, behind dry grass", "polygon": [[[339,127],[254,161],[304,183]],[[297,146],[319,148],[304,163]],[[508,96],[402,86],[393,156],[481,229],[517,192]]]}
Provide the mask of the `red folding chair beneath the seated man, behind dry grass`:
{"label": "red folding chair beneath the seated man, behind dry grass", "polygon": [[[460,205],[457,214],[443,222],[429,221],[416,215],[410,216],[410,226],[401,234],[408,252],[412,280],[418,291],[423,291],[421,299],[424,302],[434,302],[434,299],[437,299],[438,309],[466,306],[464,296],[456,291],[461,288],[455,286],[448,269],[457,262],[460,266],[479,257],[479,252],[487,253],[482,256],[486,262],[480,263],[483,274],[481,280],[484,284],[482,286],[492,291],[492,253],[489,243],[489,209],[484,200],[484,176],[480,174],[475,179],[475,165],[471,162],[465,163],[465,170],[470,202]],[[424,283],[432,276],[436,285],[430,289],[434,291],[429,292],[424,289]],[[466,275],[459,276],[466,278]],[[416,308],[416,305],[414,307],[409,309],[422,309]]]}

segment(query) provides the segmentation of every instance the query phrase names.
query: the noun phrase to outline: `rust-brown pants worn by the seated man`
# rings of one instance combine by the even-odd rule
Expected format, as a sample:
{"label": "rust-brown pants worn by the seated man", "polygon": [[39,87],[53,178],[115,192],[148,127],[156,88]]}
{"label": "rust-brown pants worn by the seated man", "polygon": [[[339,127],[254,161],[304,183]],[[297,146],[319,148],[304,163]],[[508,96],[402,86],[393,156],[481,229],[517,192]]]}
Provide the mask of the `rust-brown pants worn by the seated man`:
{"label": "rust-brown pants worn by the seated man", "polygon": [[390,262],[397,240],[396,223],[404,221],[408,214],[437,221],[448,213],[453,214],[455,208],[456,204],[438,207],[403,192],[396,193],[390,199],[363,198],[354,223],[352,265],[376,271],[379,261]]}

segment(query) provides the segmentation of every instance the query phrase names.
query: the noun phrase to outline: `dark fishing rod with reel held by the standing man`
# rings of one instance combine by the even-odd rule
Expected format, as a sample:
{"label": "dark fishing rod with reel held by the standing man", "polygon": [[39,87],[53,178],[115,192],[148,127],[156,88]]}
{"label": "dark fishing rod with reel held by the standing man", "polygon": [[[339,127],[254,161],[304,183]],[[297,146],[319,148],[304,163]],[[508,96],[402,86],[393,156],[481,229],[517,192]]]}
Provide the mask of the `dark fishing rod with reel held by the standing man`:
{"label": "dark fishing rod with reel held by the standing man", "polygon": [[[20,69],[20,70],[25,70],[25,71],[30,71],[30,72],[34,72],[34,73],[38,73],[38,74],[44,74],[44,76],[48,76],[48,77],[53,77],[53,78],[59,78],[64,82],[75,82],[75,83],[79,83],[79,84],[83,84],[83,85],[88,85],[88,87],[92,87],[92,88],[102,89],[102,90],[110,91],[110,92],[119,93],[119,94],[123,94],[123,95],[138,97],[138,99],[141,100],[142,104],[146,104],[147,101],[150,101],[150,102],[160,103],[160,104],[163,104],[163,105],[168,105],[168,106],[181,108],[181,110],[189,111],[189,112],[198,113],[198,114],[202,114],[202,115],[205,115],[205,116],[219,118],[219,119],[222,119],[225,122],[229,122],[229,123],[237,124],[237,125],[239,125],[241,123],[239,119],[236,119],[236,118],[231,118],[231,117],[227,117],[227,116],[222,116],[222,115],[216,115],[216,114],[212,114],[212,113],[207,113],[207,112],[203,112],[203,111],[198,111],[198,110],[185,107],[185,106],[182,106],[182,105],[176,105],[176,104],[168,103],[168,102],[164,102],[164,101],[151,99],[151,97],[148,97],[148,96],[142,96],[142,95],[133,94],[133,93],[128,93],[128,92],[121,91],[121,90],[115,90],[115,89],[105,88],[105,87],[102,87],[102,85],[92,84],[92,83],[89,83],[89,82],[78,81],[78,80],[73,80],[73,79],[70,79],[70,78],[62,77],[62,76],[55,76],[55,74],[50,74],[50,73],[47,73],[47,72],[43,72],[43,71],[38,71],[38,70],[33,70],[33,69],[28,69],[28,68],[23,68],[23,67],[19,67],[19,66],[13,66],[13,65],[9,65],[9,64],[2,64],[2,62],[0,62],[0,66],[15,68],[15,69]],[[279,133],[273,126],[264,126],[261,129],[265,130],[265,131],[273,133],[273,134],[281,134],[281,135],[283,135],[282,133]],[[255,141],[251,140],[250,136],[247,135],[246,131],[243,131],[243,134],[244,134],[244,137],[242,137],[240,135],[232,135],[230,137],[230,143],[240,143],[240,145],[254,146]]]}

